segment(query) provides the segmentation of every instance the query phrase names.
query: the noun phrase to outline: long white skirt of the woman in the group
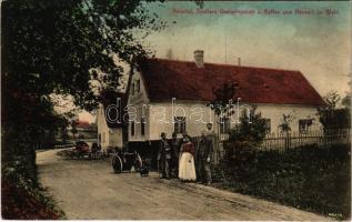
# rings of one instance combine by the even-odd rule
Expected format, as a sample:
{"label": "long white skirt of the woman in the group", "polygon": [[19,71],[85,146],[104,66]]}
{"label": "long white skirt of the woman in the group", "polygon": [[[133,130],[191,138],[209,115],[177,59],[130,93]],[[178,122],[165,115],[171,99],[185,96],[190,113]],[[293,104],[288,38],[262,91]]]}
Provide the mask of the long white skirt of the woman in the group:
{"label": "long white skirt of the woman in the group", "polygon": [[184,152],[181,154],[179,163],[179,178],[182,181],[195,181],[194,158],[191,153]]}

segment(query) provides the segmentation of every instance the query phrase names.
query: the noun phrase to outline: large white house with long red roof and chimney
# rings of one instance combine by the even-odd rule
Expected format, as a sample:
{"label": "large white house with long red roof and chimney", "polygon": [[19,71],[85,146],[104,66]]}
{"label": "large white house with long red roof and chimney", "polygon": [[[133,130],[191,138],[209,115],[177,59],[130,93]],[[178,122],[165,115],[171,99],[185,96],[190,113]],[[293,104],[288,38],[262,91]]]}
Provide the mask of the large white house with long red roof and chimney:
{"label": "large white house with long red roof and chimney", "polygon": [[242,108],[257,105],[270,132],[280,130],[283,114],[293,117],[292,131],[321,128],[316,108],[324,102],[300,71],[204,63],[201,50],[194,60],[147,59],[132,70],[127,89],[129,142],[155,141],[161,132],[170,138],[174,131],[197,137],[208,122],[225,135],[237,113],[218,124],[207,105],[224,83],[235,88],[233,103],[240,98]]}

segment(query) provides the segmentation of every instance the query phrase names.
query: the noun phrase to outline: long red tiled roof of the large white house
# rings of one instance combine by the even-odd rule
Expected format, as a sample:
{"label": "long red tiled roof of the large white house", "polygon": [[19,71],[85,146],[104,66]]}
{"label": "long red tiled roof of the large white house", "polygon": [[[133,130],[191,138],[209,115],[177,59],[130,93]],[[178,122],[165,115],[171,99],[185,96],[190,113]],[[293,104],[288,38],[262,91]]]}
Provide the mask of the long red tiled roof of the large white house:
{"label": "long red tiled roof of the large white house", "polygon": [[212,101],[213,89],[238,83],[235,98],[249,103],[323,105],[324,101],[300,71],[148,59],[140,63],[151,101]]}

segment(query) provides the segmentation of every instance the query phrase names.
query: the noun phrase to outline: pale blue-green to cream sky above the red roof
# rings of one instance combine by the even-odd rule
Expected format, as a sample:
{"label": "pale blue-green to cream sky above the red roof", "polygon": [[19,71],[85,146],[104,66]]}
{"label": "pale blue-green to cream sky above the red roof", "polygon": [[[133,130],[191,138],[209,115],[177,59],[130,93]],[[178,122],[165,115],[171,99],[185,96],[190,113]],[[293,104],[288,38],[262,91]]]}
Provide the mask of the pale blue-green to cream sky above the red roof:
{"label": "pale blue-green to cream sky above the red roof", "polygon": [[[204,1],[202,12],[217,13],[198,13],[200,7],[187,1],[145,6],[168,23],[143,40],[158,58],[165,58],[171,49],[174,59],[193,60],[193,51],[201,49],[204,62],[238,64],[241,58],[242,65],[300,70],[321,95],[335,90],[344,97],[350,90],[349,1]],[[222,10],[254,13],[224,14]],[[94,121],[87,112],[80,118]]]}

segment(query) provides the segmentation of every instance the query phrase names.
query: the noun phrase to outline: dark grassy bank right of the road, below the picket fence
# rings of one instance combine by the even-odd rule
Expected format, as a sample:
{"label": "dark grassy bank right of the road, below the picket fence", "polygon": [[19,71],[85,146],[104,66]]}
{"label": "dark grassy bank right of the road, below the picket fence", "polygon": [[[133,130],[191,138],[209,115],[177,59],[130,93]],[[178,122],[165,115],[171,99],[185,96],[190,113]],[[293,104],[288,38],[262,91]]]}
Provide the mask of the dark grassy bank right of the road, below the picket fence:
{"label": "dark grassy bank right of the road, below the picket fence", "polygon": [[218,188],[338,220],[351,216],[349,144],[329,149],[309,145],[283,152],[232,152],[223,164],[225,180],[218,181]]}

